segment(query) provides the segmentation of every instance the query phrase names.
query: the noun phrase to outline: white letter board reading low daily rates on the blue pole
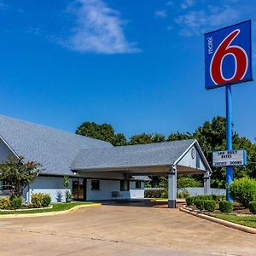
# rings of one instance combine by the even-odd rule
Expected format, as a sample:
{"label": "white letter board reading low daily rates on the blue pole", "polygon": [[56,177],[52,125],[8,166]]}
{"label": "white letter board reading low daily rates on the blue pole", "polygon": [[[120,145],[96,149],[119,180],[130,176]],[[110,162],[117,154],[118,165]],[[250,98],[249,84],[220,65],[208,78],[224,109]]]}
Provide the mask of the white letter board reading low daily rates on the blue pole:
{"label": "white letter board reading low daily rates on the blue pole", "polygon": [[243,149],[233,149],[212,152],[212,166],[246,166],[247,151]]}

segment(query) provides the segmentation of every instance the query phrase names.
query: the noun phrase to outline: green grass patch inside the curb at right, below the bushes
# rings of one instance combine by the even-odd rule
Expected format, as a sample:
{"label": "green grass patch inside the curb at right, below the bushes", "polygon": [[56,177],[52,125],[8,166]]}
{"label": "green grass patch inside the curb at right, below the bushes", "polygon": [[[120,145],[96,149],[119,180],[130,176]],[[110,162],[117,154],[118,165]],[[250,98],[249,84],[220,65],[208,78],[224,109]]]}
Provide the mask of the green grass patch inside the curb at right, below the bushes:
{"label": "green grass patch inside the curb at right, below the bushes", "polygon": [[241,224],[250,228],[256,228],[256,216],[236,216],[229,214],[212,213],[212,217],[221,218],[236,224]]}

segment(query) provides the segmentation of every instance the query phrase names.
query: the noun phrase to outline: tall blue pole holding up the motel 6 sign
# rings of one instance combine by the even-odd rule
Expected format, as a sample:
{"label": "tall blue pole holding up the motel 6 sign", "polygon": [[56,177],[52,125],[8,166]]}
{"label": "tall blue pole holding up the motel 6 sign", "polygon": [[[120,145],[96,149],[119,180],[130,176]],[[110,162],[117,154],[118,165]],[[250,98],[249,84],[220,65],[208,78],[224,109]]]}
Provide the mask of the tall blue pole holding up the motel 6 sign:
{"label": "tall blue pole holding up the motel 6 sign", "polygon": [[[226,85],[226,149],[232,150],[232,95],[231,84]],[[226,167],[226,184],[227,188],[233,182],[233,166]],[[227,201],[232,201],[230,191],[226,191]]]}

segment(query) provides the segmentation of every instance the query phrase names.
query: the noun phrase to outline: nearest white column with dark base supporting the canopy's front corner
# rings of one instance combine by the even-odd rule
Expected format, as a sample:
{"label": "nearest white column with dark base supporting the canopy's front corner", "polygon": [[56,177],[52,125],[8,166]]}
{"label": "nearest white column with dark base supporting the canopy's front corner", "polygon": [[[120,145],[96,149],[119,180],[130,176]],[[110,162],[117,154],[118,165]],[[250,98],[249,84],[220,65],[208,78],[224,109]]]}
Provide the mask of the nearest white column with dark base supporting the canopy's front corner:
{"label": "nearest white column with dark base supporting the canopy's front corner", "polygon": [[172,166],[168,174],[168,208],[176,208],[177,201],[177,168]]}

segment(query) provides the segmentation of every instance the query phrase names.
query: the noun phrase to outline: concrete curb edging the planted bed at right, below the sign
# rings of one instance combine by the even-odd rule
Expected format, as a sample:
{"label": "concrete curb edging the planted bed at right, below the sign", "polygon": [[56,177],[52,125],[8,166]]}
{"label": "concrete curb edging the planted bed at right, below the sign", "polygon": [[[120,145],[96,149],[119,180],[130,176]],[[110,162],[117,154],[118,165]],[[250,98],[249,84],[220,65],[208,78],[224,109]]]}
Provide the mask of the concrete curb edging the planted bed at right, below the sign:
{"label": "concrete curb edging the planted bed at right, below the sign", "polygon": [[240,231],[251,233],[251,234],[256,234],[256,229],[254,229],[254,228],[249,228],[249,227],[243,226],[241,224],[232,223],[232,222],[224,220],[224,219],[215,218],[215,217],[208,216],[206,214],[202,214],[202,213],[199,213],[199,212],[194,212],[193,210],[189,210],[185,206],[181,207],[179,210],[181,212],[186,212],[186,213],[189,213],[191,215],[197,216],[199,218],[203,218],[203,219],[215,222],[217,224],[224,225],[224,226],[229,227],[231,229],[240,230]]}

